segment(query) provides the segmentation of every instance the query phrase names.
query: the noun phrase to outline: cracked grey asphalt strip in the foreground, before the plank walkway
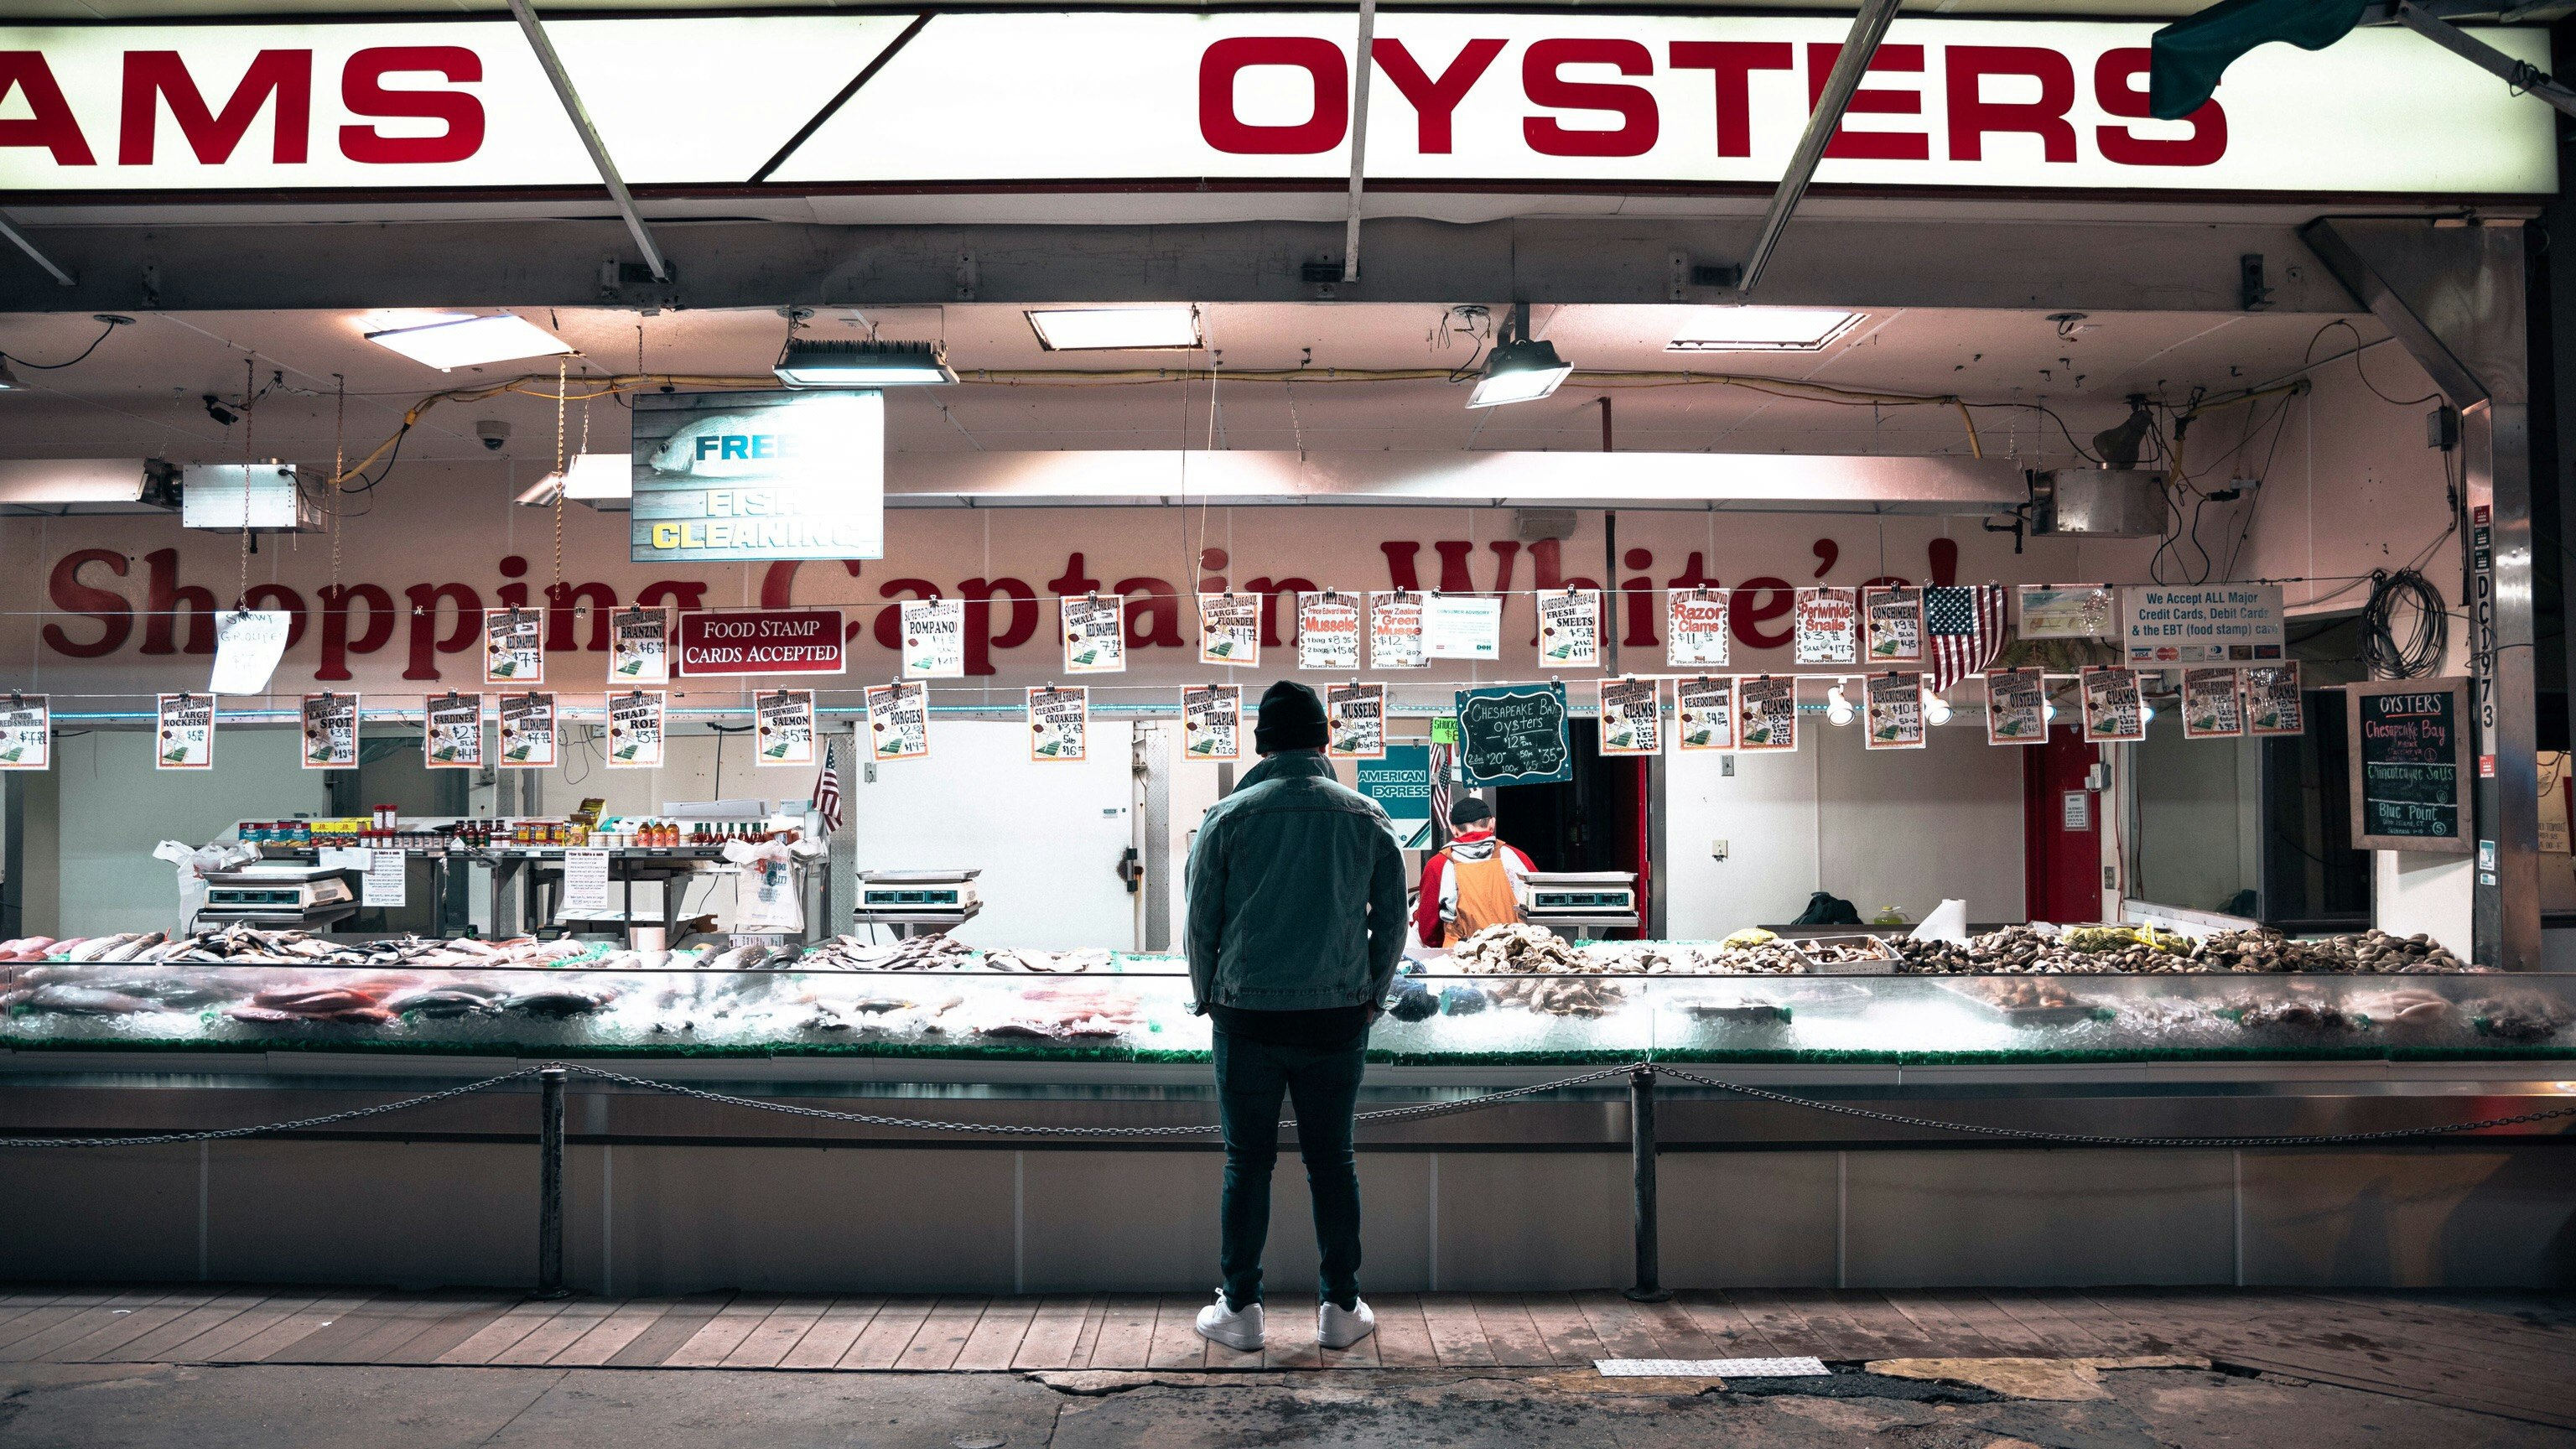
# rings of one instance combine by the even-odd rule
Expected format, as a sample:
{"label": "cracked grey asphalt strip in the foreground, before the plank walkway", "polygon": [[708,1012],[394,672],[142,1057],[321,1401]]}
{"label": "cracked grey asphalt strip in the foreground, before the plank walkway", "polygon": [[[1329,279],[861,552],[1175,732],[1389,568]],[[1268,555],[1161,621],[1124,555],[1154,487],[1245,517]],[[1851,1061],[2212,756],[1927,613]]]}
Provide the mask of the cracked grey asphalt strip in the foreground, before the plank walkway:
{"label": "cracked grey asphalt strip in the foreground, before the plank walkway", "polygon": [[5,1449],[2576,1449],[2576,1434],[2202,1369],[2017,1400],[1837,1374],[1643,1392],[1589,1374],[791,1374],[10,1364]]}

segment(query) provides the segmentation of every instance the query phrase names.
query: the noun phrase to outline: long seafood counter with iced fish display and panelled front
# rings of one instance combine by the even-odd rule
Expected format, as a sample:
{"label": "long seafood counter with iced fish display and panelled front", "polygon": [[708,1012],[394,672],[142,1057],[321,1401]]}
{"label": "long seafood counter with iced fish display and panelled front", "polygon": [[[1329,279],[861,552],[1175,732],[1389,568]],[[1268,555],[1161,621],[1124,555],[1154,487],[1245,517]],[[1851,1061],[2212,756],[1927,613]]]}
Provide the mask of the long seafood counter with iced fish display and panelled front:
{"label": "long seafood counter with iced fish display and panelled front", "polygon": [[[1203,1287],[1213,1137],[1115,1132],[1213,1119],[1208,1024],[1177,962],[8,962],[0,1134],[289,1122],[562,1060],[884,1119],[1110,1129],[925,1132],[574,1075],[577,1287]],[[1798,1098],[1662,1078],[1667,1284],[2563,1284],[2576,1119],[2331,1137],[2576,1104],[2571,1026],[2561,975],[1404,977],[1363,1111],[1607,1075],[1363,1127],[1368,1281],[1628,1281],[1615,1067],[1656,1062]],[[0,1150],[0,1274],[531,1281],[533,1137],[533,1083],[513,1080],[294,1137]],[[2112,1142],[2130,1137],[2329,1142]],[[1293,1168],[1278,1194],[1273,1271],[1298,1287]]]}

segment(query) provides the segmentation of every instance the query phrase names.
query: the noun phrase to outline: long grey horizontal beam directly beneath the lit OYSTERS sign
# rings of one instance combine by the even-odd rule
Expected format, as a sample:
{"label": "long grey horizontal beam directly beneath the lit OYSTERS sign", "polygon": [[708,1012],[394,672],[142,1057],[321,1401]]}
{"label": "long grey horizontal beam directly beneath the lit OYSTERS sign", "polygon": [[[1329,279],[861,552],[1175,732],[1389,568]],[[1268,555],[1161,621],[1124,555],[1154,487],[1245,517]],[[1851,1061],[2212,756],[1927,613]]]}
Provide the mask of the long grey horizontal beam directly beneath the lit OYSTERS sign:
{"label": "long grey horizontal beam directly beneath the lit OYSTERS sign", "polygon": [[[2306,219],[2306,217],[2300,217]],[[1167,227],[824,227],[665,222],[672,284],[603,284],[631,255],[616,217],[440,224],[46,227],[80,276],[54,286],[0,266],[0,312],[258,312],[374,307],[778,307],[953,304],[958,258],[976,302],[1314,302],[1293,258],[1332,255],[1340,217]],[[1752,219],[1564,217],[1368,222],[1368,302],[1510,297],[1669,304],[1672,253],[1744,255]],[[2017,312],[2239,312],[2239,258],[2298,258],[2287,222],[1808,217],[1762,299],[1808,307]],[[2275,276],[2280,271],[2275,268]],[[2282,276],[2275,312],[2357,307],[2321,268]]]}

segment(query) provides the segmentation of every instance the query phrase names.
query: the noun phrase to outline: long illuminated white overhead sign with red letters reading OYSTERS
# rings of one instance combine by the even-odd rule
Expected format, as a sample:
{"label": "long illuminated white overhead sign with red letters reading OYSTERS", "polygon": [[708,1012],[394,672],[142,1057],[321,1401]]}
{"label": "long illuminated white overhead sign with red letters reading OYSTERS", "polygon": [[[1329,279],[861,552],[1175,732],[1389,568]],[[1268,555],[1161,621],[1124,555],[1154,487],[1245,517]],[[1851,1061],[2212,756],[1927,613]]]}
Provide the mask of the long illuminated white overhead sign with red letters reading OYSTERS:
{"label": "long illuminated white overhead sign with red letters reading OYSTERS", "polygon": [[[1350,10],[549,18],[652,188],[1306,183],[1350,170]],[[1837,15],[1388,13],[1378,191],[1770,186]],[[2550,193],[2550,111],[2388,26],[2146,116],[2156,23],[1904,18],[1821,186]],[[2548,67],[2548,31],[2476,28]],[[881,64],[878,64],[881,62]],[[866,75],[866,85],[837,101]],[[837,103],[835,103],[837,101]],[[922,124],[935,116],[938,124]],[[0,28],[0,191],[474,191],[598,170],[510,21]]]}

